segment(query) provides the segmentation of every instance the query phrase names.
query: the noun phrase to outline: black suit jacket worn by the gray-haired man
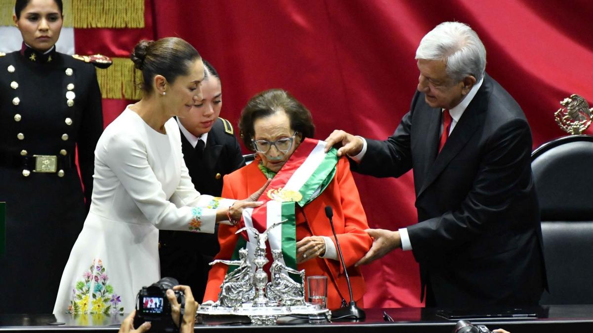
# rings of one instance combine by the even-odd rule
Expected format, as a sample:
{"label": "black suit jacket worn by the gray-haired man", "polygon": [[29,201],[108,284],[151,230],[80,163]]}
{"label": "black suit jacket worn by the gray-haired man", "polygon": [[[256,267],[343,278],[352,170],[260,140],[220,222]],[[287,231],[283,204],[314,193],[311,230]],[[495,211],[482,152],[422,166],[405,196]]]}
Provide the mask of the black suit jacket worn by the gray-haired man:
{"label": "black suit jacket worn by the gray-haired man", "polygon": [[486,75],[438,153],[441,114],[416,92],[396,132],[367,140],[352,168],[376,177],[413,169],[420,222],[407,231],[427,306],[537,304],[546,273],[524,113]]}

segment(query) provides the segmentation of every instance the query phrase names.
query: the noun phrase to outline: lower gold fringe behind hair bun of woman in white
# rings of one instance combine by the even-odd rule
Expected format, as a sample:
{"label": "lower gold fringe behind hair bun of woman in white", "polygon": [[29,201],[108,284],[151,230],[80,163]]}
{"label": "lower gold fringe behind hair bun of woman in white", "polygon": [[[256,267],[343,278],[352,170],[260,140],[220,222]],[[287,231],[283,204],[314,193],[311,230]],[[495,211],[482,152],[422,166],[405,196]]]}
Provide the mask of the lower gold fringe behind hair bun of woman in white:
{"label": "lower gold fringe behind hair bun of woman in white", "polygon": [[140,100],[142,72],[134,68],[132,60],[111,58],[113,65],[107,69],[97,69],[97,79],[103,98]]}

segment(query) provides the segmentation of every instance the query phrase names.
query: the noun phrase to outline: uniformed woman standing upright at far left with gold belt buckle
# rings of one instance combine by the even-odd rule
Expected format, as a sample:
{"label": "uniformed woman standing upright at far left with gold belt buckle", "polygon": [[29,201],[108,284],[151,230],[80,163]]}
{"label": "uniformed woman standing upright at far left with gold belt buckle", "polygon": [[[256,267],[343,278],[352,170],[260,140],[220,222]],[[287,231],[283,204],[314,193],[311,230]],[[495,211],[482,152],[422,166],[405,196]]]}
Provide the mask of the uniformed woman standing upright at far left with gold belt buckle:
{"label": "uniformed woman standing upright at far left with gold belt buckle", "polygon": [[0,313],[51,313],[93,191],[101,93],[93,65],[56,52],[61,0],[17,0],[14,21],[23,47],[0,54]]}

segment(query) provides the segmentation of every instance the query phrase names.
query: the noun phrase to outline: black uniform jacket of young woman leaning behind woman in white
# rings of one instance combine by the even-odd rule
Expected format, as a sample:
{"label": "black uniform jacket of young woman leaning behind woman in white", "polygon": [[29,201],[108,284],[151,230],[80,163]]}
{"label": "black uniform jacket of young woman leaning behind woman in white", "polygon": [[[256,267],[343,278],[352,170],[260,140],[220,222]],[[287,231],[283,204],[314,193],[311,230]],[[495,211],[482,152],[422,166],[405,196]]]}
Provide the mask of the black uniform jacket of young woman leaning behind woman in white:
{"label": "black uniform jacket of young woman leaning behind woman in white", "polygon": [[[228,120],[216,119],[206,139],[202,158],[181,133],[181,149],[189,175],[201,194],[220,196],[222,178],[245,165],[241,147]],[[216,228],[218,230],[218,227]],[[159,231],[161,276],[177,278],[192,287],[196,299],[202,299],[208,280],[208,263],[220,246],[216,232],[192,233]]]}

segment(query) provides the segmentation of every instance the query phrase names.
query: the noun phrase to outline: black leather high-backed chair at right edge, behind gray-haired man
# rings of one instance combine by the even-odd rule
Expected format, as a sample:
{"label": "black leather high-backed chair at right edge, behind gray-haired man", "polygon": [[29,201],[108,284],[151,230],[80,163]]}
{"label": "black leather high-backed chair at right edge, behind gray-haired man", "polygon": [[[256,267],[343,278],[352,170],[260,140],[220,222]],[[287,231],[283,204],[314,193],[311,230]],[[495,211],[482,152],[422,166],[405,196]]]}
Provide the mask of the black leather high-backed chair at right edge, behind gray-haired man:
{"label": "black leather high-backed chair at right edge, behind gray-haired man", "polygon": [[593,136],[545,143],[531,167],[550,287],[541,304],[593,304]]}

